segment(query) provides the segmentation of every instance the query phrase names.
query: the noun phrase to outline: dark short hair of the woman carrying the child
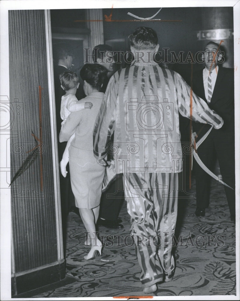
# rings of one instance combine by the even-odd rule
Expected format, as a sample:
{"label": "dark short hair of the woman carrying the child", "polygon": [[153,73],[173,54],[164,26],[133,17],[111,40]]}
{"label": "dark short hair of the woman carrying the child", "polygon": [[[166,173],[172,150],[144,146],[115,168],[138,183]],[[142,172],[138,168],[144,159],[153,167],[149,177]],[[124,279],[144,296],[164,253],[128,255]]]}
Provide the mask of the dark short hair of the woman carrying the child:
{"label": "dark short hair of the woman carrying the child", "polygon": [[106,80],[108,70],[100,64],[85,64],[81,71],[80,76],[94,89],[100,91],[103,82]]}

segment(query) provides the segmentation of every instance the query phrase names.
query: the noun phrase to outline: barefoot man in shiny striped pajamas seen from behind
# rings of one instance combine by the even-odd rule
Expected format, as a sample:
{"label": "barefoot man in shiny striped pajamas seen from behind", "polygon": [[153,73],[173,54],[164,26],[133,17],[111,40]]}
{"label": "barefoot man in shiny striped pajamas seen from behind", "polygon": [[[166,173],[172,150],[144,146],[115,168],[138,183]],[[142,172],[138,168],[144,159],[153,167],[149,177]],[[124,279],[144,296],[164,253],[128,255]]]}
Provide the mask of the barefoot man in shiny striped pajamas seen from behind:
{"label": "barefoot man in shiny striped pajamas seen from behind", "polygon": [[182,171],[178,112],[216,129],[223,120],[178,73],[154,62],[159,45],[153,29],[139,27],[129,40],[135,60],[109,81],[94,127],[94,155],[106,165],[111,152],[116,172],[124,174],[140,281],[144,293],[152,293],[158,282],[171,281],[175,268],[172,236]]}

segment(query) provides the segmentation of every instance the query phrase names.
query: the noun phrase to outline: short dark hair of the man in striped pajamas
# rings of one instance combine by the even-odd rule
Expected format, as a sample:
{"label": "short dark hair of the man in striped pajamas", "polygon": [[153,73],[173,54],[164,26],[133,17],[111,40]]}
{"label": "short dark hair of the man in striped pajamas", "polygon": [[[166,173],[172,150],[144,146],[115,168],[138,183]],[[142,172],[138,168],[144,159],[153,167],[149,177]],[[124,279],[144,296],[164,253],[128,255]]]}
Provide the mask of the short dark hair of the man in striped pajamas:
{"label": "short dark hair of the man in striped pajamas", "polygon": [[158,45],[157,33],[150,27],[138,27],[128,39],[136,50],[154,49]]}

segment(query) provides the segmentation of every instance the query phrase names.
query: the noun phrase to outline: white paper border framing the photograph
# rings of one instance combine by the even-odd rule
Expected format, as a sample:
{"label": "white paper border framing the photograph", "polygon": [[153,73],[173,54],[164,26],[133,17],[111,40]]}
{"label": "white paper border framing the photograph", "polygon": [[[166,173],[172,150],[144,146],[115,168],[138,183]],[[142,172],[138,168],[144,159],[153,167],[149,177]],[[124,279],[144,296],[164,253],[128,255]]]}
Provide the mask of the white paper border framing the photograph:
{"label": "white paper border framing the photograph", "polygon": [[[78,0],[1,0],[0,1],[0,95],[9,96],[9,57],[8,57],[8,10],[30,10],[30,9],[85,9],[85,8],[158,8],[161,7],[223,7],[232,6],[234,14],[234,71],[235,71],[235,177],[236,177],[236,212],[239,213],[239,199],[240,199],[240,2],[238,0],[162,0],[162,1],[121,1],[121,0],[88,0],[82,2]],[[6,117],[6,114],[5,114]],[[8,118],[8,117],[6,117]],[[4,121],[5,122],[5,121]],[[1,135],[0,135],[1,136]],[[1,138],[1,137],[0,137]],[[6,138],[6,137],[5,137]],[[5,151],[0,153],[0,162],[6,161]],[[0,165],[0,168],[3,165]],[[4,165],[5,166],[5,165]],[[6,162],[6,166],[10,166],[10,162]],[[1,174],[1,173],[0,173]],[[1,183],[4,179],[0,178]],[[23,298],[11,298],[11,201],[10,188],[1,189],[1,300],[25,300]],[[239,215],[236,216],[236,271],[239,272]],[[236,296],[185,296],[185,297],[154,297],[155,300],[174,299],[174,300],[193,300],[193,299],[209,299],[216,300],[223,298],[225,300],[239,299],[239,273],[236,274]],[[44,298],[42,300],[51,299],[58,300],[58,298]],[[85,298],[61,298],[64,300],[85,299]],[[88,298],[96,299],[96,298]],[[100,300],[112,300],[113,298],[97,298]],[[28,300],[28,298],[26,299]],[[31,300],[41,300],[40,298],[31,298]]]}

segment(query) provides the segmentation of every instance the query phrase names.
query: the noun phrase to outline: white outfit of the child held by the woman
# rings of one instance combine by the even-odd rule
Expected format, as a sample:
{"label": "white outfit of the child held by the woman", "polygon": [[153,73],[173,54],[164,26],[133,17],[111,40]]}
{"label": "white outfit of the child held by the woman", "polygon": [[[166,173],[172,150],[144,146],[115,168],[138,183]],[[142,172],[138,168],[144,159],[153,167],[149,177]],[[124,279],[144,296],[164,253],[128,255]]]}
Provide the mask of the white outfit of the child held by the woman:
{"label": "white outfit of the child held by the woman", "polygon": [[[69,94],[69,95],[63,95],[61,100],[61,110],[60,110],[60,116],[63,119],[61,126],[66,122],[67,117],[70,115],[71,112],[77,112],[85,109],[85,103],[80,103],[75,95]],[[67,142],[65,151],[63,153],[62,160],[60,162],[61,167],[61,173],[64,177],[66,177],[67,171],[66,166],[69,161],[69,147],[71,144],[72,139],[75,137],[75,133],[72,134],[70,139]]]}

